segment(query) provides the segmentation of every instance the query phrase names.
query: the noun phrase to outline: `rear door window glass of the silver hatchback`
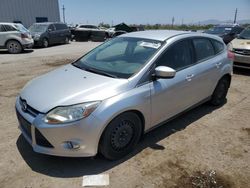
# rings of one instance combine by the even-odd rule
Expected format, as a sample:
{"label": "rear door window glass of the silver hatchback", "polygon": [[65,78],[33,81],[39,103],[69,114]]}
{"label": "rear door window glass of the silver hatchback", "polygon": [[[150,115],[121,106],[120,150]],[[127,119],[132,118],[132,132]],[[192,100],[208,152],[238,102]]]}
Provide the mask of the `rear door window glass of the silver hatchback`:
{"label": "rear door window glass of the silver hatchback", "polygon": [[214,48],[210,40],[205,38],[193,39],[196,60],[201,61],[214,56]]}

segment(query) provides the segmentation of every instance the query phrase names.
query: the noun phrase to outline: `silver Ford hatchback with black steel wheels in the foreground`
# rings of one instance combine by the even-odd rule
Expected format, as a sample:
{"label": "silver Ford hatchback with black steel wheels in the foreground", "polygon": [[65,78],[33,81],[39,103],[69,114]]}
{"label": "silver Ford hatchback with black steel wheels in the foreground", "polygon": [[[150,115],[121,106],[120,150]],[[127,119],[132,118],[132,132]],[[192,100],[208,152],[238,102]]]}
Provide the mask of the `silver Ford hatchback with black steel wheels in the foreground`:
{"label": "silver Ford hatchback with black steel wheels in the foreground", "polygon": [[39,153],[119,159],[181,112],[208,100],[223,104],[231,57],[208,34],[122,35],[30,81],[16,100],[19,128]]}

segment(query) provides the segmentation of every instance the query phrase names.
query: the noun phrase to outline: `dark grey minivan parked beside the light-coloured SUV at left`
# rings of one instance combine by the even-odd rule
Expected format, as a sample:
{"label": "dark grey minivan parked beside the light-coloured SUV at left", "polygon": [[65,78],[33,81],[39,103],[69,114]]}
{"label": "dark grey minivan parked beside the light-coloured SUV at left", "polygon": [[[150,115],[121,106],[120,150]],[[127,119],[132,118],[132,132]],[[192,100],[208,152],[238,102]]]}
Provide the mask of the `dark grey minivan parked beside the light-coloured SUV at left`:
{"label": "dark grey minivan parked beside the light-coloured SUV at left", "polygon": [[52,44],[68,44],[71,32],[63,23],[35,23],[29,28],[36,46],[47,48]]}

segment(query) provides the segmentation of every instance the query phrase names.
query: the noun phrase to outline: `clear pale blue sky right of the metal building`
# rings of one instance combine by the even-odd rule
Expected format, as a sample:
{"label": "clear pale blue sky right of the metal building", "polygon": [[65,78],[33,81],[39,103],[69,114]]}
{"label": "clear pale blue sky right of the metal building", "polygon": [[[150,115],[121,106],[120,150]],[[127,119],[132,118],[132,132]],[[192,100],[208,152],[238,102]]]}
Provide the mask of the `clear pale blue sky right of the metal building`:
{"label": "clear pale blue sky right of the metal building", "polygon": [[[67,23],[192,24],[216,19],[250,19],[250,0],[59,0]],[[63,21],[63,19],[62,19]]]}

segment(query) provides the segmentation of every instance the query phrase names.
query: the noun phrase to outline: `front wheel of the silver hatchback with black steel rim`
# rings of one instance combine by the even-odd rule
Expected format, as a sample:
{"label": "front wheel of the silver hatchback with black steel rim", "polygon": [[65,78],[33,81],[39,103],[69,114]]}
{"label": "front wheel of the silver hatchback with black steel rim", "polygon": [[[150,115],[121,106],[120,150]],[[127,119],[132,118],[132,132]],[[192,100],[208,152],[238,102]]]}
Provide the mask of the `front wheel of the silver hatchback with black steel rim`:
{"label": "front wheel of the silver hatchback with black steel rim", "polygon": [[109,160],[117,160],[130,153],[140,140],[141,119],[133,112],[126,112],[113,119],[106,127],[99,151]]}

